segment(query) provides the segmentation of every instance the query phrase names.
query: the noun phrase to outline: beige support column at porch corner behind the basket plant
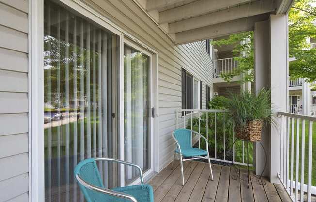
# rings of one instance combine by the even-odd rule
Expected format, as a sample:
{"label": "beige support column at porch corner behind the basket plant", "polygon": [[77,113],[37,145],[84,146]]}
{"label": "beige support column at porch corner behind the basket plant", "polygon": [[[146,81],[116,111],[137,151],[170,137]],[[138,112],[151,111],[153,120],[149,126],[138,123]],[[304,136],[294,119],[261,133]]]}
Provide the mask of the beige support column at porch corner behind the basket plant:
{"label": "beige support column at porch corner behind the basket plant", "polygon": [[[262,87],[271,89],[271,102],[275,112],[286,111],[288,80],[288,34],[287,16],[270,15],[269,21],[255,23],[255,90]],[[280,121],[277,121],[279,123]],[[267,165],[264,176],[273,183],[279,182],[280,131],[270,127],[263,130],[261,143],[267,152]],[[273,155],[271,155],[273,154]],[[256,144],[256,173],[264,168],[264,152]]]}

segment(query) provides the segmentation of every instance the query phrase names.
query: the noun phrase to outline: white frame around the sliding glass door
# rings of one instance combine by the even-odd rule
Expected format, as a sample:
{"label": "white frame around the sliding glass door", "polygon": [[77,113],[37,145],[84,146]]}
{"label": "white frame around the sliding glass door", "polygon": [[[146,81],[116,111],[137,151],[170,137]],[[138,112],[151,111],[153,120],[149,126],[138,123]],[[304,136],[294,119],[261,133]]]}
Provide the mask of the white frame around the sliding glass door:
{"label": "white frame around the sliding glass door", "polygon": [[[119,120],[124,123],[124,63],[123,63],[123,48],[124,36],[135,43],[141,45],[152,54],[152,104],[155,107],[155,118],[152,123],[152,141],[151,158],[152,170],[159,171],[159,147],[158,147],[158,51],[148,47],[145,43],[138,40],[132,34],[126,32],[122,28],[115,25],[111,20],[96,12],[81,0],[59,0],[69,8],[72,8],[80,14],[88,17],[92,21],[98,23],[103,28],[117,34],[119,37]],[[43,36],[44,36],[44,0],[29,0],[29,202],[44,202],[45,201],[45,176],[44,176],[44,70],[43,68]],[[121,110],[123,106],[123,111]],[[120,136],[124,136],[124,124],[120,124]],[[120,139],[121,145],[124,139]],[[123,144],[124,146],[124,144]],[[123,147],[124,148],[124,147]],[[124,152],[123,152],[124,157]],[[122,166],[123,168],[123,166]],[[121,169],[120,174],[124,174],[124,169]],[[124,176],[124,175],[123,175]],[[124,179],[124,178],[123,178]],[[123,181],[124,182],[124,181]],[[122,183],[122,181],[120,182]],[[121,184],[122,185],[122,184]]]}

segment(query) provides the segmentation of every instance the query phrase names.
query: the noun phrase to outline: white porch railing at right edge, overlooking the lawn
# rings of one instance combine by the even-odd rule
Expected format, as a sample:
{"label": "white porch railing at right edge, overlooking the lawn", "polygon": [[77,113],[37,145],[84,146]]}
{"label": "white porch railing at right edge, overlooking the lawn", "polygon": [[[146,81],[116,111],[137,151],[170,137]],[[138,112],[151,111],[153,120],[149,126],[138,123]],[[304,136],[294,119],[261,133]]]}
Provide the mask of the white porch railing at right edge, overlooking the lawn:
{"label": "white porch railing at right edge, overlooking the lawn", "polygon": [[[278,177],[292,200],[311,202],[316,194],[312,186],[316,178],[312,171],[313,124],[316,117],[279,112],[280,168]],[[315,164],[315,162],[313,162]]]}

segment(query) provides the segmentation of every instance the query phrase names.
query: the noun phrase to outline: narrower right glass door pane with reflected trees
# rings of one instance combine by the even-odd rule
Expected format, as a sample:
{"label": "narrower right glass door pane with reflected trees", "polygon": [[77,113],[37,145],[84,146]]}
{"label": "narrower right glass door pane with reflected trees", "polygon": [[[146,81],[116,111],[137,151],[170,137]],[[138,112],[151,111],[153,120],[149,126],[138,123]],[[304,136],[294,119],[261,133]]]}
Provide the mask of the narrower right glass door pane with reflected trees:
{"label": "narrower right glass door pane with reflected trees", "polygon": [[[151,169],[151,57],[124,45],[124,156],[143,172]],[[125,167],[125,184],[139,177],[135,168]]]}

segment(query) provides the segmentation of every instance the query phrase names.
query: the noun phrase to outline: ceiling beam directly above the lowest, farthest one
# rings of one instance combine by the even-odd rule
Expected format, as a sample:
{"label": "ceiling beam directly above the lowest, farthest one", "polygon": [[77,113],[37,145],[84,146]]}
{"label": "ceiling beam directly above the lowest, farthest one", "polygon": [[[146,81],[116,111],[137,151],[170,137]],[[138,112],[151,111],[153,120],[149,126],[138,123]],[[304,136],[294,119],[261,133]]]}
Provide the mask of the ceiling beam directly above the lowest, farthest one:
{"label": "ceiling beam directly above the lowest, farthest one", "polygon": [[184,32],[200,27],[215,25],[244,17],[275,11],[273,0],[256,1],[218,12],[213,12],[199,17],[193,17],[169,24],[169,33]]}

